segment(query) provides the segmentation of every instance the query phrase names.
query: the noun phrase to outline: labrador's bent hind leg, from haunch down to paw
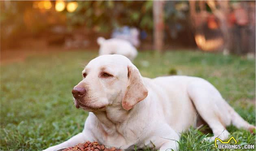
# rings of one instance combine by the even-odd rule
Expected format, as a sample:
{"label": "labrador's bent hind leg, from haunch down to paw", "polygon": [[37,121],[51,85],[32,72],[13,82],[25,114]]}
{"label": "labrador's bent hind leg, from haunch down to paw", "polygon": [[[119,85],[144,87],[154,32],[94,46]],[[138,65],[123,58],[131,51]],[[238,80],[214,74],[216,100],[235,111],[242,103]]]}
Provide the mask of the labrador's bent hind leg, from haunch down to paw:
{"label": "labrador's bent hind leg, from haunch down to paw", "polygon": [[228,104],[219,91],[206,80],[195,78],[188,85],[187,92],[197,112],[213,131],[214,136],[209,140],[212,141],[216,137],[227,139],[229,132],[226,126],[232,123],[232,108],[227,107]]}

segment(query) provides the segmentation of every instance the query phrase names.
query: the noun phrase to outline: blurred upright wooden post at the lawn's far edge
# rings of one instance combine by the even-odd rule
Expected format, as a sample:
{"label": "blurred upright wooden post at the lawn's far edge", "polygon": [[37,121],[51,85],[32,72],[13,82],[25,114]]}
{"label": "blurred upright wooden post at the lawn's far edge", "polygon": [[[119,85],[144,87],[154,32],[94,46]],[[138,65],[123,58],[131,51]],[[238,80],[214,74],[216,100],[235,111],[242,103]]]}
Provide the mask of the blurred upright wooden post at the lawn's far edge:
{"label": "blurred upright wooden post at the lawn's far edge", "polygon": [[163,30],[164,30],[164,12],[163,1],[153,1],[153,19],[154,19],[154,49],[158,52],[163,50]]}

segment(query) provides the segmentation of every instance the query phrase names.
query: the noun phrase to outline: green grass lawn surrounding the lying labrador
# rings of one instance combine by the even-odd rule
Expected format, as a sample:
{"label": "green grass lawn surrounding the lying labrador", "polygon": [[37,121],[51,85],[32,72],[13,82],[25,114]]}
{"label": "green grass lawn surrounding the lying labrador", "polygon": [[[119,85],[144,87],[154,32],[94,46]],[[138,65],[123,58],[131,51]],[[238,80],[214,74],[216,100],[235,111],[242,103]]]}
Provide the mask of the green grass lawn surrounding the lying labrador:
{"label": "green grass lawn surrounding the lying labrador", "polygon": [[[71,91],[82,79],[82,67],[97,55],[54,52],[1,65],[0,150],[42,150],[81,132],[88,113],[75,108]],[[170,70],[204,78],[244,119],[255,123],[255,60],[171,51],[162,56],[141,52],[134,64],[142,76],[150,78],[167,75]],[[232,126],[228,130],[238,144],[255,145],[255,135]],[[180,150],[215,149],[213,142],[201,142],[204,137],[191,128],[182,134]]]}

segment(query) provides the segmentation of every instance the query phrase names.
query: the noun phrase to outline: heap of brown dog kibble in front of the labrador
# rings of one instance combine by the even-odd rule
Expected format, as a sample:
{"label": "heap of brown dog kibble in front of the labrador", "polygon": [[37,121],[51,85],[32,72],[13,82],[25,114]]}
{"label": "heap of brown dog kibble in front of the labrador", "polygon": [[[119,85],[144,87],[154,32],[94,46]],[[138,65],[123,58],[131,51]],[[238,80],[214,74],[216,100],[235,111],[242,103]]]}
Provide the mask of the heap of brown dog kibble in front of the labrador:
{"label": "heap of brown dog kibble in front of the labrador", "polygon": [[117,149],[115,147],[105,147],[104,145],[98,144],[98,142],[87,141],[74,147],[68,147],[63,151],[121,151],[121,149]]}

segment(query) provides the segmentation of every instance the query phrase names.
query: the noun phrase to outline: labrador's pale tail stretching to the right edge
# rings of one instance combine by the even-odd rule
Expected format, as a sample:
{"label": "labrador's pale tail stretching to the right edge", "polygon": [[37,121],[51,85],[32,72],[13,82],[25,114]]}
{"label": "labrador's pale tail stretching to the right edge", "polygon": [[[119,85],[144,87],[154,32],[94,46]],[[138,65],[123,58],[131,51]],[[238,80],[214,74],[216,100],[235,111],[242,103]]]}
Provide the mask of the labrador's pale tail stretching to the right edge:
{"label": "labrador's pale tail stretching to the right edge", "polygon": [[254,125],[249,124],[247,121],[245,121],[226,101],[225,103],[231,115],[232,125],[234,125],[237,128],[247,129],[251,133],[255,133],[254,129],[256,129],[256,127]]}

